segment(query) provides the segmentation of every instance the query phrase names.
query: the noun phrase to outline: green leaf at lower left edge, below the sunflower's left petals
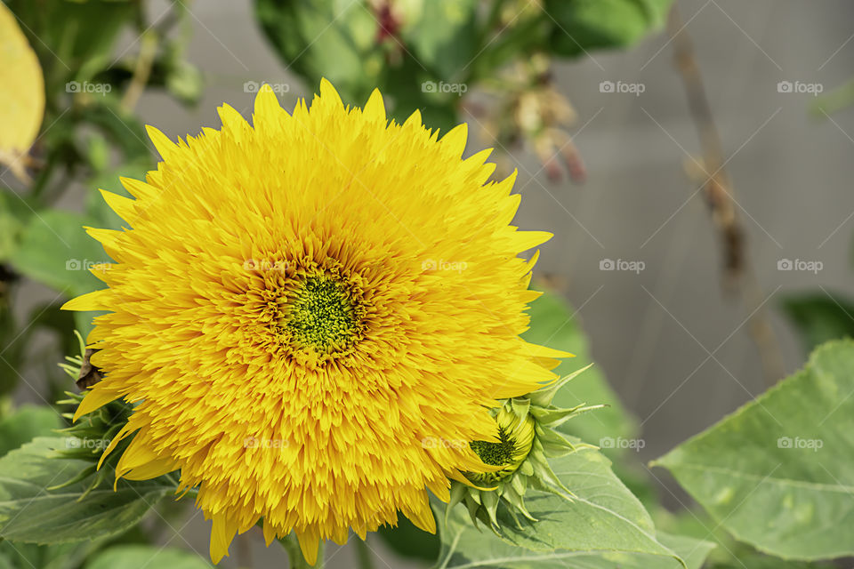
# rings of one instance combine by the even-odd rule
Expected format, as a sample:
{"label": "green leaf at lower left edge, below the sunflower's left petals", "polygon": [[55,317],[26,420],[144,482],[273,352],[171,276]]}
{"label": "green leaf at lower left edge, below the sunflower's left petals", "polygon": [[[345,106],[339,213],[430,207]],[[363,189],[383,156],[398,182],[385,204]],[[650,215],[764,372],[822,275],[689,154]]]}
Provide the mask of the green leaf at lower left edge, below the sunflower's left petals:
{"label": "green leaf at lower left edge, below the sunflower's left petals", "polygon": [[0,537],[28,543],[58,544],[124,533],[136,525],[175,485],[168,478],[122,480],[81,497],[90,478],[57,490],[92,464],[59,458],[64,437],[38,437],[0,459]]}

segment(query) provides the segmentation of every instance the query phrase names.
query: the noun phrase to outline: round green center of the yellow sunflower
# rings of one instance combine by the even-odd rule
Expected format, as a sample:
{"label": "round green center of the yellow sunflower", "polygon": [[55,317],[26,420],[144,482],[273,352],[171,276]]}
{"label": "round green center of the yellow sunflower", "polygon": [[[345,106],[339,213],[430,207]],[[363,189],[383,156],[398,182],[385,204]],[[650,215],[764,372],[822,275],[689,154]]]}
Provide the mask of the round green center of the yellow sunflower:
{"label": "round green center of the yellow sunflower", "polygon": [[329,354],[355,340],[357,309],[347,284],[328,276],[307,276],[289,295],[284,328],[297,346]]}

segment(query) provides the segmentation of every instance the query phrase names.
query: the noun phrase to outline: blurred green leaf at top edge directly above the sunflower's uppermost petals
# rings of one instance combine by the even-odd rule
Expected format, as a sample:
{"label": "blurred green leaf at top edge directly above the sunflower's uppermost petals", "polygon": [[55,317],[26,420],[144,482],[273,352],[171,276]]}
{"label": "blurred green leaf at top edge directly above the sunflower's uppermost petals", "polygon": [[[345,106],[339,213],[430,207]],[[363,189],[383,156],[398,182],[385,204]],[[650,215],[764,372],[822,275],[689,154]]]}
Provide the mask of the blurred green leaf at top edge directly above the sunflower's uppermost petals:
{"label": "blurred green leaf at top edge directly above the sunflower's uppermost petals", "polygon": [[[310,86],[331,81],[346,102],[363,103],[385,67],[378,25],[363,0],[255,0],[264,34]],[[257,82],[270,80],[258,77]]]}

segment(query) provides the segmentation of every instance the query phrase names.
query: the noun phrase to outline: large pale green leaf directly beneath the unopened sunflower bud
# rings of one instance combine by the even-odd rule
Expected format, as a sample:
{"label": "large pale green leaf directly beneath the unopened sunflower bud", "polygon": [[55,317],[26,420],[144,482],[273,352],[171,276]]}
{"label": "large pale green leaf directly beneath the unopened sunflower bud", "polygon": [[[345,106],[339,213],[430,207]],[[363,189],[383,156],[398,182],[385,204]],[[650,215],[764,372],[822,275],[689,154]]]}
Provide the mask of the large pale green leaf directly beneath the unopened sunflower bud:
{"label": "large pale green leaf directly beneath the unopened sunflower bud", "polygon": [[[441,534],[442,562],[452,567],[515,568],[527,567],[532,559],[599,557],[608,552],[660,557],[654,566],[681,566],[673,550],[657,541],[649,514],[614,475],[604,455],[584,449],[550,463],[563,485],[575,493],[572,501],[552,493],[527,493],[526,506],[538,521],[518,526],[499,509],[501,539],[478,533],[464,509],[457,507]],[[513,556],[512,562],[508,556]]]}

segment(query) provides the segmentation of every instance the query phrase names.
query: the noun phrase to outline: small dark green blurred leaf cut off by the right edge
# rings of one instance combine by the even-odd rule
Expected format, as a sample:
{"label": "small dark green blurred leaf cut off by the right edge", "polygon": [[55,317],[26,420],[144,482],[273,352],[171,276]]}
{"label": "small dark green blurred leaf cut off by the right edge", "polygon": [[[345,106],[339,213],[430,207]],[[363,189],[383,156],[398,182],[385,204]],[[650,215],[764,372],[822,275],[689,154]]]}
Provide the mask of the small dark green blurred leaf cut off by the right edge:
{"label": "small dark green blurred leaf cut off by the right edge", "polygon": [[783,301],[786,316],[810,352],[830,340],[854,337],[854,302],[834,294],[806,293]]}

